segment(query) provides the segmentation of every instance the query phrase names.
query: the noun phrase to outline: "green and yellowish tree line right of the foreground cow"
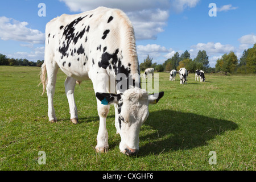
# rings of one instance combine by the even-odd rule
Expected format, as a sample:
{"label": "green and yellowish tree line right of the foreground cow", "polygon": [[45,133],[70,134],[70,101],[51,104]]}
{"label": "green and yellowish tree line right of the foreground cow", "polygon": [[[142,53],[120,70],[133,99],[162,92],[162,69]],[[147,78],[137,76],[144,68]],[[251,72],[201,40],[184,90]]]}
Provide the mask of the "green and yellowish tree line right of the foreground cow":
{"label": "green and yellowish tree line right of the foreground cow", "polygon": [[154,68],[157,72],[170,72],[172,69],[179,70],[185,67],[191,73],[195,73],[197,69],[202,69],[207,73],[223,72],[225,75],[228,73],[256,73],[256,44],[253,48],[245,49],[239,60],[233,51],[225,53],[217,60],[214,68],[209,67],[209,56],[204,50],[200,50],[195,59],[191,59],[190,53],[186,50],[181,55],[176,52],[163,64],[152,63],[152,60],[152,57],[148,55],[140,64],[141,71],[146,68]]}

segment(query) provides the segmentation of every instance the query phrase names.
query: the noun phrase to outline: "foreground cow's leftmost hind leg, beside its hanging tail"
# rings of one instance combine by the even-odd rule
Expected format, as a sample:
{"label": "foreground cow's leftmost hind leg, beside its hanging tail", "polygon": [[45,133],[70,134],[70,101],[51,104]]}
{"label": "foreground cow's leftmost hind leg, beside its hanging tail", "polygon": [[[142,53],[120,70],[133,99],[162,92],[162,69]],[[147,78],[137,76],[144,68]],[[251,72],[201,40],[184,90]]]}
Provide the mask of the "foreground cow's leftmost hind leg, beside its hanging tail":
{"label": "foreground cow's leftmost hind leg, beside its hanging tail", "polygon": [[46,64],[47,69],[47,97],[48,97],[48,117],[50,122],[56,122],[55,109],[53,107],[53,96],[55,92],[56,77],[58,72],[58,65],[55,62]]}

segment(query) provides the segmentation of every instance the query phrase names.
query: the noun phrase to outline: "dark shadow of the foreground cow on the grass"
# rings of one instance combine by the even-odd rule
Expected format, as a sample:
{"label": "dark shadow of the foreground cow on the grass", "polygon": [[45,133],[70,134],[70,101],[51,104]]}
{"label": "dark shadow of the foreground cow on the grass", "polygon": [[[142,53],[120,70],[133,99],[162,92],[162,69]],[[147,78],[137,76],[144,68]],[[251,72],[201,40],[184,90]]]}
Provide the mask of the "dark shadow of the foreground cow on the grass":
{"label": "dark shadow of the foreground cow on the grass", "polygon": [[[174,110],[153,111],[144,125],[138,156],[205,146],[217,135],[238,127],[232,121]],[[150,134],[143,135],[148,130]]]}

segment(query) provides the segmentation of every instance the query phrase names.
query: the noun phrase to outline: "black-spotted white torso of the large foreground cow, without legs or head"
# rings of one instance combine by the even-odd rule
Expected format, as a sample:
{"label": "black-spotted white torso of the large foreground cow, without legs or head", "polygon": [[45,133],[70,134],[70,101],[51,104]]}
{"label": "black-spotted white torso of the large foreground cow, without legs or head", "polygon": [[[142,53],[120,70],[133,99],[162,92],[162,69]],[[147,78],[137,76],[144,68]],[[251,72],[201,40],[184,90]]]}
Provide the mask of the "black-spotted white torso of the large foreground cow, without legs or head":
{"label": "black-spotted white torso of the large foreground cow, without legs or head", "polygon": [[51,20],[46,26],[46,55],[77,80],[102,72],[139,72],[133,26],[117,9],[98,7]]}

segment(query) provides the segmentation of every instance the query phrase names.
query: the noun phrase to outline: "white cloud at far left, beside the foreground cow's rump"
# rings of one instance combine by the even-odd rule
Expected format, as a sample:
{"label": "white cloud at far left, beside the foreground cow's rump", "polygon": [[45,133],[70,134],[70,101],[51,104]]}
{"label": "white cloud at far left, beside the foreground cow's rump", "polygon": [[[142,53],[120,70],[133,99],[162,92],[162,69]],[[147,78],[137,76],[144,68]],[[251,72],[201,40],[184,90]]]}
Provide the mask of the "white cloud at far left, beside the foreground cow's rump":
{"label": "white cloud at far left, beside the foreground cow's rump", "polygon": [[31,44],[44,44],[44,33],[27,26],[27,22],[19,22],[13,18],[0,16],[0,38]]}

